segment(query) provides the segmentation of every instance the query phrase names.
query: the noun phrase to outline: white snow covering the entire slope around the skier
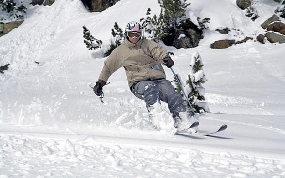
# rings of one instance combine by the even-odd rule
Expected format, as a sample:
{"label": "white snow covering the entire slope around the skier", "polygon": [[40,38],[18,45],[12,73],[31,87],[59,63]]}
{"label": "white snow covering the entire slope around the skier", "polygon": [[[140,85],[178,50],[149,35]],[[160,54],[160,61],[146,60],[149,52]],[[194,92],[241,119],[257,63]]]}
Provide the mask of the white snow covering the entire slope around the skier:
{"label": "white snow covering the entire slope around the skier", "polygon": [[[278,4],[256,1],[260,17],[253,22],[235,1],[191,1],[187,14],[194,23],[198,16],[211,18],[204,39],[196,48],[166,49],[174,52],[173,68],[181,77],[199,51],[211,113],[200,115],[199,133],[173,135],[167,105],[158,112],[165,118],[157,131],[123,68],[104,86],[104,103],[90,87],[114,23],[124,29],[149,7],[159,14],[157,1],[138,2],[121,0],[101,13],[89,13],[81,1],[26,6],[23,24],[0,38],[0,65],[11,64],[0,74],[0,178],[285,177],[285,45],[209,47],[215,40],[263,33],[260,24]],[[103,41],[102,49],[87,50],[84,25]],[[219,34],[219,27],[240,31]],[[227,130],[200,135],[222,124]]]}

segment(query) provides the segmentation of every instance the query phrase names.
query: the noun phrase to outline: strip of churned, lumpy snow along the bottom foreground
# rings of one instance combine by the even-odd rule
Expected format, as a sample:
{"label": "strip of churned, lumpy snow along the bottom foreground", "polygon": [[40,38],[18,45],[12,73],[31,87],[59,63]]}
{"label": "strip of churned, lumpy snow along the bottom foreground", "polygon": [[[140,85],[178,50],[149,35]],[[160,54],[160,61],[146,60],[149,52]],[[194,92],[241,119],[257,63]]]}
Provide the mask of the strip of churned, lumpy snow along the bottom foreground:
{"label": "strip of churned, lumpy snow along the bottom foreground", "polygon": [[[1,178],[285,176],[285,160],[195,149],[102,145],[96,143],[96,137],[69,140],[1,134],[0,160]],[[4,170],[9,175],[2,174]]]}

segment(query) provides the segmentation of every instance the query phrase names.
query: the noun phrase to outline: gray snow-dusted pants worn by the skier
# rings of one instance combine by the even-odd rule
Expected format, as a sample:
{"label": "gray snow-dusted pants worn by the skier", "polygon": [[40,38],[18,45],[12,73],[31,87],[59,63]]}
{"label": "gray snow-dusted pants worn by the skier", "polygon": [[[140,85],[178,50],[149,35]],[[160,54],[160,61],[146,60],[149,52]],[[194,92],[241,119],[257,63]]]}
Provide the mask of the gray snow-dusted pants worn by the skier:
{"label": "gray snow-dusted pants worn by the skier", "polygon": [[179,112],[186,111],[183,105],[183,98],[174,90],[170,81],[159,79],[154,81],[143,80],[135,82],[131,88],[133,94],[146,102],[147,109],[156,102],[168,103],[168,108],[172,117],[176,120],[179,117]]}

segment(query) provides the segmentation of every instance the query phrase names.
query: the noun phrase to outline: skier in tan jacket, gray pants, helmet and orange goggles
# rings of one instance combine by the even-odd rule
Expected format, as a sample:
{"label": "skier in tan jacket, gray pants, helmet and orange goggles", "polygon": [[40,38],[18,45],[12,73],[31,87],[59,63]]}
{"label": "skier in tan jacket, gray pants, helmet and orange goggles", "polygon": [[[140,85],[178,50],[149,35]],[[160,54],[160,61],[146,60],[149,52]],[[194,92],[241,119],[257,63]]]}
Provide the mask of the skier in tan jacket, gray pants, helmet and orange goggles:
{"label": "skier in tan jacket, gray pants, helmet and orange goggles", "polygon": [[[166,75],[162,65],[168,68],[174,61],[168,52],[158,43],[142,39],[143,29],[138,22],[129,22],[125,28],[125,41],[118,46],[105,60],[103,69],[94,93],[102,94],[102,87],[109,77],[120,67],[124,67],[128,85],[132,93],[146,102],[146,107],[152,117],[154,104],[160,101],[168,103],[168,108],[174,119],[174,127],[183,130],[181,112],[186,114],[183,98],[178,94]],[[186,114],[187,115],[187,114]]]}

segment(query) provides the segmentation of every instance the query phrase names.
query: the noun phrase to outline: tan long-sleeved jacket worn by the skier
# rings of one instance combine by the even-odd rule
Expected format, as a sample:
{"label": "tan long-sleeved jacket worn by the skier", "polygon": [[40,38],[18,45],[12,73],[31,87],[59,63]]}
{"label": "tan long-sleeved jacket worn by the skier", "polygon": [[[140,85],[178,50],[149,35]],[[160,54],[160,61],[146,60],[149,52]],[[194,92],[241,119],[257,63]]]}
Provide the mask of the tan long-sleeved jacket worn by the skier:
{"label": "tan long-sleeved jacket worn by the skier", "polygon": [[106,81],[120,67],[124,67],[129,87],[135,81],[166,79],[162,61],[167,51],[158,43],[140,39],[136,44],[127,39],[105,60],[99,80]]}

